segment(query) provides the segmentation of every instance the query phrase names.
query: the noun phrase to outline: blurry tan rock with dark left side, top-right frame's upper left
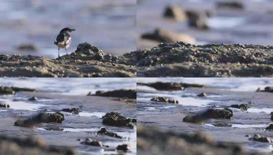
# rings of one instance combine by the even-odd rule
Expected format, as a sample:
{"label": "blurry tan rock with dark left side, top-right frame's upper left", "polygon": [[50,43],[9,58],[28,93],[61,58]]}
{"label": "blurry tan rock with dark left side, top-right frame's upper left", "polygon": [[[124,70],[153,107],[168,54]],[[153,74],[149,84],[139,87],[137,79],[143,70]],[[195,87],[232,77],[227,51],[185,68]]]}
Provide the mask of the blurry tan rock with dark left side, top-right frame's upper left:
{"label": "blurry tan rock with dark left side, top-right frame's upper left", "polygon": [[179,6],[168,6],[165,9],[164,17],[174,19],[177,21],[183,21],[187,19],[187,15]]}

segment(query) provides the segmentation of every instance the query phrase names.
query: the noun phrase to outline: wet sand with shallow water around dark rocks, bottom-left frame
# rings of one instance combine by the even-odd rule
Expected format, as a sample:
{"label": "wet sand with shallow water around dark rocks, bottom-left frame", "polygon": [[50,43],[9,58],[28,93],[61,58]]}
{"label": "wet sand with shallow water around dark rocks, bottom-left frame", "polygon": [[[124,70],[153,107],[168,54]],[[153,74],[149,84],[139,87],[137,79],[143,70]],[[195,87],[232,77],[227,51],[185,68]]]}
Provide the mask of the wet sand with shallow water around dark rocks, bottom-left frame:
{"label": "wet sand with shallow water around dark rocks, bottom-left frame", "polygon": [[[26,101],[32,96],[37,97],[38,101]],[[53,146],[69,146],[75,148],[80,154],[116,154],[118,153],[115,149],[117,145],[129,144],[131,145],[131,150],[126,154],[136,154],[136,124],[133,130],[125,127],[113,127],[102,124],[101,118],[107,112],[112,111],[119,112],[129,118],[136,118],[135,104],[128,104],[111,97],[73,96],[39,92],[19,92],[16,93],[15,96],[5,95],[1,96],[1,98],[2,100],[7,100],[7,102],[9,102],[10,99],[20,100],[12,101],[10,109],[1,109],[1,135],[15,137],[25,137],[29,135],[41,136],[47,144]],[[37,109],[33,109],[37,104],[40,104],[40,106],[37,107]],[[25,108],[19,108],[20,106],[25,106]],[[14,126],[16,119],[27,118],[41,111],[56,112],[64,108],[79,107],[82,107],[82,112],[80,112],[79,115],[62,112],[65,114],[65,120],[62,124],[42,123],[37,126],[36,130]],[[114,132],[123,138],[118,139],[96,135],[95,133],[102,126],[105,126],[109,132]],[[80,144],[80,141],[77,141],[78,139],[84,140],[86,138],[100,140],[105,145],[109,145],[109,147],[88,146]]]}

